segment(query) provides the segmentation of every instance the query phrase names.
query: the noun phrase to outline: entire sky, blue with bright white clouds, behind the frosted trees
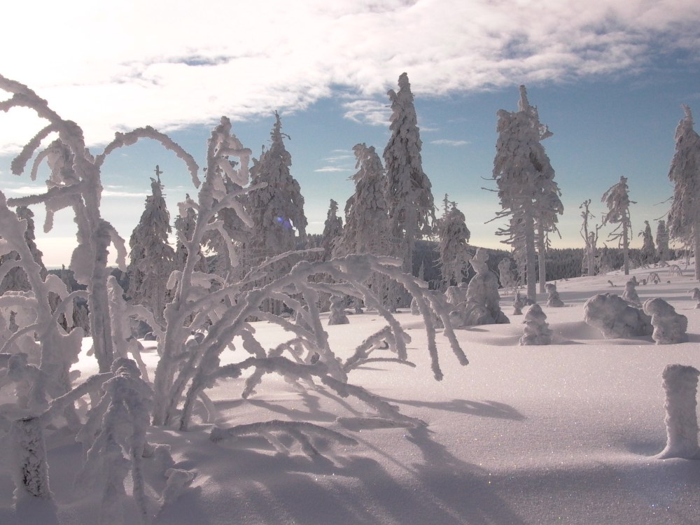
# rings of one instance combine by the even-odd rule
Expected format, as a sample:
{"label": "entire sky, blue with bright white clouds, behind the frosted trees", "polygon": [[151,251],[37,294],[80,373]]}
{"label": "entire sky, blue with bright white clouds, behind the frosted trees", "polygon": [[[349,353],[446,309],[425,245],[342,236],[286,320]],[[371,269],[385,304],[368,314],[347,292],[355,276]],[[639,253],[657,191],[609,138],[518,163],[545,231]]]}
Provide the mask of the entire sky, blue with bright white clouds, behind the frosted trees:
{"label": "entire sky, blue with bright white clouds, behind the frosted trees", "polygon": [[[381,153],[388,97],[406,71],[423,140],[423,169],[435,202],[457,202],[472,244],[499,246],[491,169],[496,111],[517,109],[518,85],[554,136],[543,144],[565,211],[562,239],[580,246],[580,210],[629,178],[636,232],[664,216],[673,188],[673,134],[688,104],[700,115],[700,5],[695,0],[302,0],[123,1],[23,4],[5,9],[0,74],[32,87],[76,120],[93,153],[115,131],[153,125],[203,164],[211,126],[234,120],[260,153],[279,110],[292,174],[306,200],[309,232],[321,232],[329,200],[351,195],[351,148]],[[20,23],[27,20],[26,24]],[[41,123],[28,112],[0,115],[0,188],[8,197],[41,186],[9,174],[9,161]],[[186,169],[160,146],[122,148],[104,165],[103,214],[128,239],[155,165],[172,216],[195,193]],[[41,176],[40,176],[41,179]],[[38,222],[41,210],[35,210]],[[68,262],[70,216],[41,234],[48,265]],[[609,228],[601,230],[601,237]],[[503,245],[500,245],[502,247]]]}

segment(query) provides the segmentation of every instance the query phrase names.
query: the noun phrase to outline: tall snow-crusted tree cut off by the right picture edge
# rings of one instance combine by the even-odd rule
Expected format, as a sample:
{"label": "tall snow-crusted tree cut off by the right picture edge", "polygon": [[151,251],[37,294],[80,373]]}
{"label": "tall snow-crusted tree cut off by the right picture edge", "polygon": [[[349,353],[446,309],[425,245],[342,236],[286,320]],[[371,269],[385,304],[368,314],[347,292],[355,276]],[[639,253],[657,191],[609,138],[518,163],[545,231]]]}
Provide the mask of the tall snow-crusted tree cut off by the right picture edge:
{"label": "tall snow-crusted tree cut off by the right picture edge", "polygon": [[675,129],[675,154],[668,170],[673,182],[673,204],[668,212],[668,235],[692,245],[695,279],[700,280],[700,137],[693,130],[693,115],[682,106],[685,117]]}

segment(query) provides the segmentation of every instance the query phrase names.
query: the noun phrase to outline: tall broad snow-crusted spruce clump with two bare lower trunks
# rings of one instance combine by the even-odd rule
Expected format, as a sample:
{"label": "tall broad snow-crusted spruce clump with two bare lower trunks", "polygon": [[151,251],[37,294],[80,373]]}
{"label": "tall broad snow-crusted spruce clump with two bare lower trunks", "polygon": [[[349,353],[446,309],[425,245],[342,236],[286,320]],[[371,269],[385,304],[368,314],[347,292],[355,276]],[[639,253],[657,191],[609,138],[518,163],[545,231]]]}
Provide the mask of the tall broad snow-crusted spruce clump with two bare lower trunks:
{"label": "tall broad snow-crusted spruce clump with two bare lower trunks", "polygon": [[498,139],[493,160],[493,179],[503,208],[496,219],[510,217],[507,228],[496,234],[507,236],[503,242],[514,248],[516,260],[524,261],[527,295],[536,300],[535,243],[540,259],[540,289],[544,291],[547,234],[556,231],[557,215],[563,213],[554,169],[541,141],[552,136],[540,123],[536,106],[520,86],[518,111],[498,111]]}

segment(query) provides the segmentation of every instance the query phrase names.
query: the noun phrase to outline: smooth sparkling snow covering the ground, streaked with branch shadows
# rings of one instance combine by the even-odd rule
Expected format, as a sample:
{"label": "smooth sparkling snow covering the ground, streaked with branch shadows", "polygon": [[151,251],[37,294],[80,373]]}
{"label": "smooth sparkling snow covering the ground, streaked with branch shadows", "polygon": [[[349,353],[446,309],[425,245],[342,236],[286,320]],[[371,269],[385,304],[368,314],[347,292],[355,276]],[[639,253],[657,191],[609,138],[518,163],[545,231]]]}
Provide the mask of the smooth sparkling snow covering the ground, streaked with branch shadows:
{"label": "smooth sparkling snow covering the ground, streaked with branch shadows", "polygon": [[[566,307],[547,307],[546,295],[539,295],[554,332],[551,345],[519,346],[523,316],[510,315],[512,295],[502,295],[511,324],[458,330],[468,366],[459,365],[439,337],[444,379],[438,382],[421,319],[399,314],[413,337],[409,360],[416,367],[372,363],[351,372],[350,382],[426,426],[378,418],[362,402],[340,399],[323,386],[298,391],[277,375],[265,376],[248,400],[240,398],[241,379],[221,381],[209,391],[218,426],[309,421],[357,444],[322,437],[314,442],[321,454],[310,457],[284,437],[280,446],[290,447],[288,454],[260,437],[211,442],[210,424],[187,433],[154,428],[148,440],[171,444],[176,466],[197,472],[154,523],[700,523],[700,462],[653,457],[666,444],[661,372],[671,363],[700,368],[700,309],[688,291],[697,283],[690,268],[683,276],[668,269],[633,274],[642,279],[650,271],[661,283],[638,286],[640,299],[663,297],[687,316],[689,342],[603,339],[584,323],[584,301],[595,293],[621,295],[627,278],[569,279],[557,283]],[[349,325],[328,327],[332,349],[342,358],[383,325],[371,312],[349,317]],[[255,328],[266,347],[288,338],[265,323]],[[155,351],[145,358],[153,365]],[[81,365],[83,377],[97,367],[92,358]],[[97,494],[76,493],[72,486],[80,444],[60,431],[46,441],[55,522],[97,523]],[[165,479],[149,465],[155,514]],[[0,524],[22,523],[12,510],[6,470],[0,471]],[[135,512],[130,500],[127,523]]]}

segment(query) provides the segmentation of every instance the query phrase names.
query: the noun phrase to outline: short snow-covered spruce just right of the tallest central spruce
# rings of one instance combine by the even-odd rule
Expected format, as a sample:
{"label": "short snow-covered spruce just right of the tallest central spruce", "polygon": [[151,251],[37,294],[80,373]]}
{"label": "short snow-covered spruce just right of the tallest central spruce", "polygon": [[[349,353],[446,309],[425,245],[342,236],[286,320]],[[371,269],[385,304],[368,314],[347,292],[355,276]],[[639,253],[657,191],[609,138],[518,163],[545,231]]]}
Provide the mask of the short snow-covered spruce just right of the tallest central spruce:
{"label": "short snow-covered spruce just right of the tallest central spruce", "polygon": [[437,221],[437,235],[440,237],[440,267],[444,289],[461,283],[465,277],[471,255],[467,243],[471,233],[465,224],[464,214],[456,202],[448,202],[444,196],[444,213]]}

